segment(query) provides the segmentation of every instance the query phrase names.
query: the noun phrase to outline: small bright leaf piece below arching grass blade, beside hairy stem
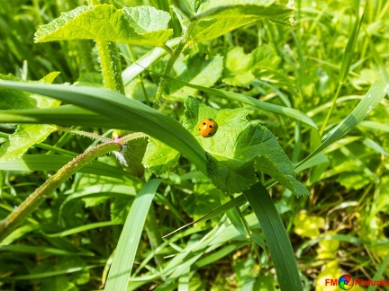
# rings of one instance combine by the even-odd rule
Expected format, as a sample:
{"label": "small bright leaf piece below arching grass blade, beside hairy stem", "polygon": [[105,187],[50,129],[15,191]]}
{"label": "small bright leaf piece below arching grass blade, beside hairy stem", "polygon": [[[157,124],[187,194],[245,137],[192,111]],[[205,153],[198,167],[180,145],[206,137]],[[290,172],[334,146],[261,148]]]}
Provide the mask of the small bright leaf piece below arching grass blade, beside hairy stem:
{"label": "small bright leaf piece below arching grass blade, beside hairy stem", "polygon": [[150,137],[142,163],[150,172],[159,176],[176,165],[179,154],[176,149]]}

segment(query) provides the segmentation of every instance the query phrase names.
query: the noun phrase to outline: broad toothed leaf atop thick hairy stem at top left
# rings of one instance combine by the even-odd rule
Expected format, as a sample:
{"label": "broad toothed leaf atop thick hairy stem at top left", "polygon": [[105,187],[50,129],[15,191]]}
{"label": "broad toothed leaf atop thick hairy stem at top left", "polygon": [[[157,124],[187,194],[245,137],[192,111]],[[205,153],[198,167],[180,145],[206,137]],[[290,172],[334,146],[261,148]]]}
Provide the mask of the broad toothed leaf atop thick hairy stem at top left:
{"label": "broad toothed leaf atop thick hairy stem at top left", "polygon": [[163,46],[173,33],[167,29],[169,13],[151,6],[124,7],[97,4],[78,6],[41,25],[35,42],[53,40],[105,40],[142,46]]}

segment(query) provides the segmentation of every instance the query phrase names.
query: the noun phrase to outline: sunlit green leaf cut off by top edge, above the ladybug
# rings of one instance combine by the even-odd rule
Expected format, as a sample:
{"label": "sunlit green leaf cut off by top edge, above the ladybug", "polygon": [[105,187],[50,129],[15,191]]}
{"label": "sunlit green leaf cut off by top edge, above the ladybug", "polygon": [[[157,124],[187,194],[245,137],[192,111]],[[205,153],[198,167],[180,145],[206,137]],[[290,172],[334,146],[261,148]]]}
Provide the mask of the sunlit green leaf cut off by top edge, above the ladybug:
{"label": "sunlit green leaf cut off by top edge, above the ladybug", "polygon": [[274,0],[210,0],[196,12],[190,43],[212,40],[261,19],[290,26],[293,12],[293,8]]}

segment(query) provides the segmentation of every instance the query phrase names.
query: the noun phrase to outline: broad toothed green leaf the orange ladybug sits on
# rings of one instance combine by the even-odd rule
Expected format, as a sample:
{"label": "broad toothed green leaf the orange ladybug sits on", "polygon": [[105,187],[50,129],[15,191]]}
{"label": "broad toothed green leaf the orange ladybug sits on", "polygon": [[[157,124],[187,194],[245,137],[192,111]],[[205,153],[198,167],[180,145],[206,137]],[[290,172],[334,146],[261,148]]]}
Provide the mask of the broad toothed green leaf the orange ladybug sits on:
{"label": "broad toothed green leaf the orange ladybug sits on", "polygon": [[[247,190],[258,181],[256,170],[275,178],[297,196],[309,191],[295,180],[294,166],[276,137],[267,128],[249,124],[251,109],[214,110],[193,98],[185,101],[183,125],[208,153],[208,174],[216,187],[228,193]],[[198,124],[204,118],[217,122],[213,137],[201,137]]]}

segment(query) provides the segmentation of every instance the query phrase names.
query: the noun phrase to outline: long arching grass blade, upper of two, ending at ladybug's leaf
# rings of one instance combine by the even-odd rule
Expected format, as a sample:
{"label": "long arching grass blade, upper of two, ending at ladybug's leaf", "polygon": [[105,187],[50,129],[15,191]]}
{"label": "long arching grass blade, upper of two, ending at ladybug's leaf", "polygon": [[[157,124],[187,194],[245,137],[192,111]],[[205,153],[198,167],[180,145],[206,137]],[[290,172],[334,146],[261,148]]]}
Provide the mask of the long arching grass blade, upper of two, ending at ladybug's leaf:
{"label": "long arching grass blade, upper of two, ending at ladybug's leaf", "polygon": [[[118,129],[141,131],[156,137],[184,154],[201,172],[206,173],[206,157],[204,149],[180,123],[166,114],[149,106],[126,98],[120,93],[95,87],[73,87],[68,85],[30,84],[12,81],[0,81],[0,88],[28,91],[66,101],[103,115],[116,122]],[[11,110],[7,110],[9,117]],[[27,116],[28,117],[28,116]],[[56,115],[52,115],[53,124],[57,123]],[[2,122],[10,122],[6,118]],[[12,122],[15,122],[12,119]],[[24,122],[21,120],[20,122]],[[40,123],[40,120],[30,120]],[[98,123],[98,121],[96,121]]]}

